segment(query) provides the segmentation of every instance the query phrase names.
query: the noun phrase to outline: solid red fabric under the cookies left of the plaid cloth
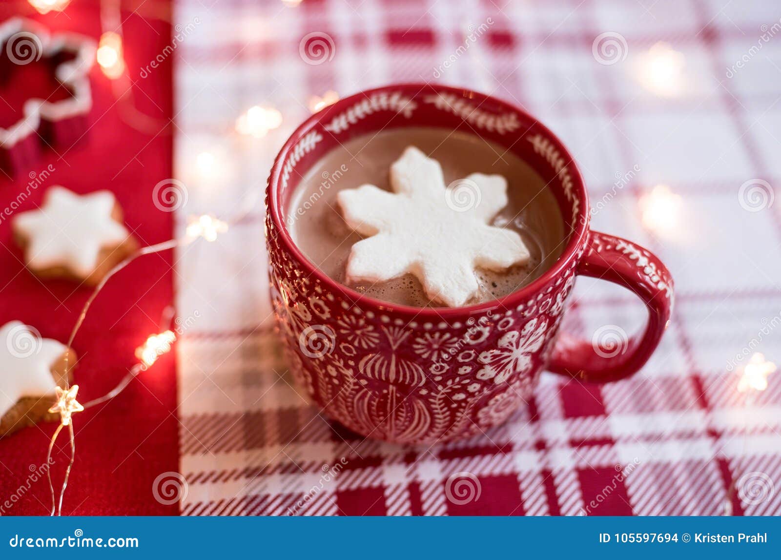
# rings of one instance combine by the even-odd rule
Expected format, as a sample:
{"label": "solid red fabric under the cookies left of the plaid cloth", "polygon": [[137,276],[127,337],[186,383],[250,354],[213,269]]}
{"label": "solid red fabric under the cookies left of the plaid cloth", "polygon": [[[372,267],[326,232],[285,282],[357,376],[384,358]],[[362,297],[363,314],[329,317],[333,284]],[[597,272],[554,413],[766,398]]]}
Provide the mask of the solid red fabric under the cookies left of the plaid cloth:
{"label": "solid red fabric under the cookies left of the plaid cloth", "polygon": [[[158,8],[159,9],[159,6]],[[74,0],[66,13],[37,16],[27,2],[4,3],[0,21],[30,16],[52,30],[73,30],[98,39],[97,2]],[[123,18],[129,14],[123,14]],[[169,44],[169,23],[130,16],[124,23],[126,59],[131,67],[151,60]],[[152,187],[171,177],[172,140],[166,123],[172,116],[170,62],[134,87],[138,109],[155,117],[159,134],[144,134],[124,119],[128,105],[116,102],[112,84],[96,66],[91,73],[94,106],[91,129],[84,140],[48,152],[34,169],[18,180],[0,177],[0,208],[27,186],[28,173],[51,164],[55,171],[31,191],[18,212],[40,205],[46,188],[62,184],[87,193],[109,189],[122,206],[125,221],[141,244],[172,237],[172,214],[152,203]],[[4,95],[0,91],[0,95]],[[162,119],[159,121],[159,119]],[[158,122],[159,121],[159,122]],[[41,282],[24,269],[22,254],[12,242],[9,219],[0,223],[0,323],[20,319],[44,337],[66,341],[84,301],[85,287],[66,281]],[[134,262],[105,287],[73,344],[80,362],[74,370],[79,401],[105,394],[135,362],[134,349],[157,332],[162,310],[173,298],[173,255],[151,255]],[[3,372],[0,372],[2,375]],[[142,373],[119,397],[74,417],[77,457],[66,491],[64,515],[176,514],[177,505],[162,505],[152,496],[152,481],[161,473],[176,471],[177,390],[173,354],[166,355]],[[49,437],[55,424],[27,428],[0,440],[0,498],[17,495],[4,508],[5,515],[47,514],[51,504],[45,477],[30,484],[30,473],[45,463]],[[52,466],[55,489],[67,465],[68,438],[62,434]],[[24,487],[25,490],[20,491]],[[2,503],[0,503],[2,505]]]}

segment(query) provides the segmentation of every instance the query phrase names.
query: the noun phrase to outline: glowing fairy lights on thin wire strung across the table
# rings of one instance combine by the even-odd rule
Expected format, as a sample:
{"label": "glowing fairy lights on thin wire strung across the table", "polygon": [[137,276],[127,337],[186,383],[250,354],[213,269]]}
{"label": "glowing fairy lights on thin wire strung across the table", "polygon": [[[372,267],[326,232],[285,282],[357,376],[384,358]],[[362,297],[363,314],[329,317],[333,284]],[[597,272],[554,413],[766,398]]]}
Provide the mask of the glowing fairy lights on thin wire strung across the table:
{"label": "glowing fairy lights on thin wire strung across the table", "polygon": [[[70,0],[28,0],[28,2],[41,14],[62,12],[62,10],[66,9],[70,4]],[[301,3],[301,0],[281,0],[281,2],[284,5],[295,7]],[[98,42],[96,60],[102,73],[111,80],[113,93],[117,98],[117,101],[123,102],[123,111],[126,113],[125,117],[128,117],[125,119],[126,122],[131,127],[148,132],[149,134],[159,134],[161,129],[169,130],[170,123],[166,123],[161,119],[155,119],[154,117],[138,111],[134,104],[132,98],[134,84],[128,76],[127,64],[124,59],[123,19],[120,0],[102,0],[100,7],[102,34]],[[596,48],[596,43],[594,46]],[[619,55],[621,55],[621,52],[619,52]],[[596,52],[595,57],[597,57]],[[625,53],[624,57],[626,57]],[[597,60],[599,61],[598,58]],[[638,57],[637,63],[640,65],[640,71],[635,72],[636,79],[640,85],[652,94],[658,95],[659,97],[670,98],[680,95],[681,91],[685,89],[685,59],[680,52],[677,52],[670,45],[664,42],[653,45]],[[635,70],[637,70],[637,67]],[[336,91],[326,91],[322,96],[312,96],[308,100],[308,109],[311,112],[318,112],[327,105],[337,102],[338,99],[339,95]],[[266,136],[269,131],[280,127],[282,122],[283,116],[279,110],[263,105],[253,105],[237,117],[234,130],[238,134],[244,136],[259,138]],[[212,152],[206,150],[199,152],[196,155],[195,167],[199,172],[209,174],[212,173],[215,168],[219,167],[219,162]],[[632,177],[628,177],[628,179],[631,178]],[[626,179],[627,177],[623,178],[623,180]],[[617,182],[616,185],[619,185],[619,182]],[[622,187],[623,184],[620,186]],[[648,230],[653,231],[654,234],[664,237],[665,235],[678,230],[682,199],[680,195],[672,191],[669,186],[665,184],[654,186],[650,191],[647,191],[646,194],[640,197],[638,204],[643,225]],[[100,284],[95,287],[91,296],[84,304],[84,308],[81,310],[76,324],[73,326],[66,347],[69,349],[69,352],[66,354],[66,373],[69,371],[69,368],[72,367],[72,365],[68,363],[68,360],[70,358],[70,348],[73,346],[73,340],[77,336],[80,326],[84,323],[87,312],[91,308],[95,298],[97,298],[98,294],[112,276],[130,265],[130,262],[133,262],[138,257],[152,255],[174,248],[182,248],[199,238],[205,239],[206,241],[215,241],[219,235],[224,234],[229,230],[231,225],[241,222],[241,219],[244,219],[249,210],[249,208],[245,208],[243,212],[240,212],[240,216],[236,216],[229,221],[223,221],[208,214],[191,216],[188,219],[183,237],[174,238],[169,241],[163,241],[159,244],[153,244],[138,249],[134,254],[115,266],[103,278]],[[102,397],[80,404],[79,401],[77,401],[79,386],[77,384],[70,386],[68,375],[64,376],[65,387],[55,387],[55,404],[52,405],[49,412],[59,413],[60,423],[52,434],[52,438],[49,442],[47,461],[51,460],[52,450],[63,430],[66,430],[69,435],[70,460],[63,476],[62,486],[59,488],[59,497],[55,492],[55,487],[52,483],[51,470],[47,470],[48,485],[52,497],[51,515],[62,514],[62,499],[76,456],[75,434],[72,422],[73,415],[84,409],[91,408],[115,398],[140,373],[152,366],[160,356],[169,352],[173,343],[177,340],[177,334],[173,330],[166,328],[170,325],[171,319],[173,319],[173,307],[169,306],[163,312],[159,332],[149,335],[146,341],[144,341],[144,344],[141,344],[141,346],[136,348],[135,356],[138,359],[137,364],[130,368],[127,374],[119,380],[119,383]],[[749,401],[753,401],[754,394],[765,391],[768,387],[768,377],[775,371],[776,364],[769,362],[764,355],[754,353],[751,355],[751,358],[746,365],[739,369],[740,378],[737,383],[737,390],[740,393],[747,393],[750,399]],[[734,494],[735,491],[733,483],[733,488],[731,488],[730,493]],[[729,501],[726,510],[728,513],[732,511]]]}

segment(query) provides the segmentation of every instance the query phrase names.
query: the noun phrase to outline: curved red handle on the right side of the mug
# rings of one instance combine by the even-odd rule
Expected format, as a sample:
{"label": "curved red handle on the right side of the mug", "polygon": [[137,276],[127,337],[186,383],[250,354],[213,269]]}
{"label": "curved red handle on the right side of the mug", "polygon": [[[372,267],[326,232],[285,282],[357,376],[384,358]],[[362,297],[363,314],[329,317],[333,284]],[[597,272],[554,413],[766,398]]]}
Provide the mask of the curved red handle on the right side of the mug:
{"label": "curved red handle on the right side of the mug", "polygon": [[641,336],[626,337],[619,326],[594,334],[591,341],[562,333],[551,355],[553,373],[590,383],[624,379],[637,373],[662,339],[672,313],[672,276],[651,251],[621,237],[590,231],[576,274],[629,288],[648,308]]}

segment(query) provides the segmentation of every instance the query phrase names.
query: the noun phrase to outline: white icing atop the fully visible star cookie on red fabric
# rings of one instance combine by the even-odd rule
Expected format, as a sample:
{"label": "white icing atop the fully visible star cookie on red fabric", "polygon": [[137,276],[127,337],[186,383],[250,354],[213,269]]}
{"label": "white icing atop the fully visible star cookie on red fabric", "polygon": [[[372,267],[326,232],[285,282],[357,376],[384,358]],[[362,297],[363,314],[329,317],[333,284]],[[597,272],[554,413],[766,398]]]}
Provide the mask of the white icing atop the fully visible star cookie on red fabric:
{"label": "white icing atop the fully visible star cookie on red fabric", "polygon": [[101,249],[128,237],[125,226],[112,218],[115,204],[109,191],[80,196],[64,187],[51,187],[40,209],[13,220],[16,231],[27,238],[28,266],[66,266],[78,276],[89,276],[100,264]]}

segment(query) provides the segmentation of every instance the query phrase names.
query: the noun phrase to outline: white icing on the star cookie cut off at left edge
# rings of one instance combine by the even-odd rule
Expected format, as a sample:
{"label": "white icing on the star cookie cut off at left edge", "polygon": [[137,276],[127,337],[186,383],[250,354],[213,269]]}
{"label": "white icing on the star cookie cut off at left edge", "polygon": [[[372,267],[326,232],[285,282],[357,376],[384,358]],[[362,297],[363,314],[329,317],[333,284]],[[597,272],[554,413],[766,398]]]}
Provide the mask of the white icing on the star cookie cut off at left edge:
{"label": "white icing on the star cookie cut off at left edge", "polygon": [[0,416],[20,398],[54,392],[52,366],[65,350],[65,344],[38,337],[20,321],[0,328]]}

